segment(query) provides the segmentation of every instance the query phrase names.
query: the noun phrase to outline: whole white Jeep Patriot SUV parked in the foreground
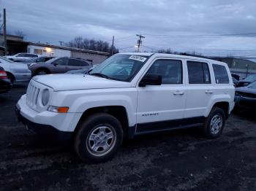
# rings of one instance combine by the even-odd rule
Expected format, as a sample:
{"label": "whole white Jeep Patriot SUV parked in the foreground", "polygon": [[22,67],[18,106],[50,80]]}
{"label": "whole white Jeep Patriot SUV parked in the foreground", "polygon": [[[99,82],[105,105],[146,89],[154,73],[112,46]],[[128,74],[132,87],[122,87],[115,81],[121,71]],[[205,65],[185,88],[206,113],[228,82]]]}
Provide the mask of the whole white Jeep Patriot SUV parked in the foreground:
{"label": "whole white Jeep Patriot SUV parked in the foreground", "polygon": [[226,63],[119,53],[89,75],[34,77],[16,112],[28,129],[72,140],[82,160],[99,163],[113,157],[124,138],[145,133],[200,126],[217,138],[234,89]]}

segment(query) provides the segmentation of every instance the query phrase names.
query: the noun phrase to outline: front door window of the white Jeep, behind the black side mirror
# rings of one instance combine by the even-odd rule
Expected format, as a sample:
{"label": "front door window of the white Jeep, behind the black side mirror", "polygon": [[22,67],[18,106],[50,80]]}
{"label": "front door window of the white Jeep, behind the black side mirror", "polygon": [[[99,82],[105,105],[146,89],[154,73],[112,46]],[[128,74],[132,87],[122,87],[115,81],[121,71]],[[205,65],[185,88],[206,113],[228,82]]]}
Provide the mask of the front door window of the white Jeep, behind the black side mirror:
{"label": "front door window of the white Jeep, behind the black side mirror", "polygon": [[182,84],[182,62],[175,60],[157,60],[147,74],[162,76],[162,84]]}

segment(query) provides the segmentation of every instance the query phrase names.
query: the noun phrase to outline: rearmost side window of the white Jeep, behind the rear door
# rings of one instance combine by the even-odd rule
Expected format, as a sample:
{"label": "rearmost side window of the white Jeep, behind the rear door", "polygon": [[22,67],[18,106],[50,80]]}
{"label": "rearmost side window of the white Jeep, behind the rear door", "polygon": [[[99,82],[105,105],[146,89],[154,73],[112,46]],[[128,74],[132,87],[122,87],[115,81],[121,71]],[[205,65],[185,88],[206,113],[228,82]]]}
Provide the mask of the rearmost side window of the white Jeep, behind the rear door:
{"label": "rearmost side window of the white Jeep, behind the rear door", "polygon": [[217,84],[228,84],[230,82],[225,66],[219,64],[213,64],[215,82]]}

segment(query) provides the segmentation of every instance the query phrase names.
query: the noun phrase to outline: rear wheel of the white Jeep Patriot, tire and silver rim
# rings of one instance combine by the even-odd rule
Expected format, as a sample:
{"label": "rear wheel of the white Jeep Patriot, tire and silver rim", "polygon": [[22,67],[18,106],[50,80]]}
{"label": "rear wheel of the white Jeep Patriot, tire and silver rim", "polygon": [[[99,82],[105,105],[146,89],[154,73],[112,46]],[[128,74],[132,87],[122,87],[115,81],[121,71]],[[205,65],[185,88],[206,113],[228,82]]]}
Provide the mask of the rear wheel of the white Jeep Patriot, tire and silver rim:
{"label": "rear wheel of the white Jeep Patriot, tire and silver rim", "polygon": [[224,126],[225,112],[219,107],[214,107],[211,109],[203,128],[206,137],[208,139],[217,139],[222,134]]}

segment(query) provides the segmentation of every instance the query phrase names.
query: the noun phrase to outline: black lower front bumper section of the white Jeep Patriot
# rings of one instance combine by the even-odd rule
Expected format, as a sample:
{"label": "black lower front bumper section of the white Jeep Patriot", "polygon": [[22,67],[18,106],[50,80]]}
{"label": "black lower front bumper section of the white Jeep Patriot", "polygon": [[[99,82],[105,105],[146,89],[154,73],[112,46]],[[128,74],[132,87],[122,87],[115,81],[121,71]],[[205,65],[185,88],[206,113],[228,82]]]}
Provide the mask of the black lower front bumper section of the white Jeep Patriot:
{"label": "black lower front bumper section of the white Jeep Patriot", "polygon": [[61,131],[54,128],[51,125],[43,125],[43,124],[32,122],[26,119],[20,114],[20,108],[18,105],[16,105],[15,107],[15,113],[16,113],[16,116],[18,117],[18,120],[22,122],[24,125],[26,125],[26,128],[28,130],[31,130],[34,133],[37,133],[39,136],[44,136],[50,139],[56,139],[61,143],[65,143],[71,140],[72,138],[72,132]]}

